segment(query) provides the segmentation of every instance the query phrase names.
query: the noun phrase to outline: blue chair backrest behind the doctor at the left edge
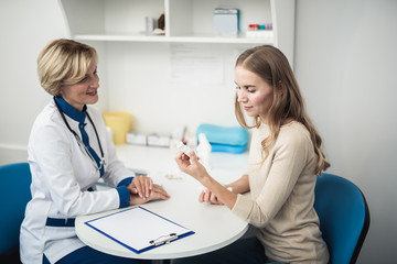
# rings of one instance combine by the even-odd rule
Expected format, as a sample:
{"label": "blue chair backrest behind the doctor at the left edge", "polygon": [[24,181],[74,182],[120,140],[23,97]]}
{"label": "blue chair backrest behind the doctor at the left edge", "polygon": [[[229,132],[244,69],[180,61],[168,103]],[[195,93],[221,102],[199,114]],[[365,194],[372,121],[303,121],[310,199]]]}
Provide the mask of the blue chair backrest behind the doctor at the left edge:
{"label": "blue chair backrest behind the doctor at the left edge", "polygon": [[32,198],[28,163],[0,166],[0,254],[19,246],[19,233],[28,201]]}

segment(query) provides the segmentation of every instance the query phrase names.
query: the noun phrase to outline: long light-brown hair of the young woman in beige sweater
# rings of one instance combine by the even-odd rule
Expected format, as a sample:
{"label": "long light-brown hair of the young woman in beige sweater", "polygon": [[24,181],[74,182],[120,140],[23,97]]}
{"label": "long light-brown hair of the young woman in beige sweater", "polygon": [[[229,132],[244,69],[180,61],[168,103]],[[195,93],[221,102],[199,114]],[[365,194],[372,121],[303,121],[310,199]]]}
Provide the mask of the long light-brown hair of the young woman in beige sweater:
{"label": "long light-brown hair of the young woman in beige sweater", "polygon": [[[282,52],[270,45],[253,47],[239,55],[236,62],[237,66],[260,76],[273,88],[273,100],[268,112],[270,135],[261,142],[264,161],[268,157],[269,148],[277,140],[282,122],[292,119],[302,123],[310,133],[314,153],[318,156],[314,173],[321,174],[322,170],[325,170],[330,163],[325,160],[325,155],[321,150],[321,136],[307,114],[297,79]],[[279,92],[280,89],[282,89],[282,94]],[[247,124],[237,96],[235,99],[235,114],[239,124],[245,129],[259,128],[261,123],[260,117],[256,117],[254,125]]]}

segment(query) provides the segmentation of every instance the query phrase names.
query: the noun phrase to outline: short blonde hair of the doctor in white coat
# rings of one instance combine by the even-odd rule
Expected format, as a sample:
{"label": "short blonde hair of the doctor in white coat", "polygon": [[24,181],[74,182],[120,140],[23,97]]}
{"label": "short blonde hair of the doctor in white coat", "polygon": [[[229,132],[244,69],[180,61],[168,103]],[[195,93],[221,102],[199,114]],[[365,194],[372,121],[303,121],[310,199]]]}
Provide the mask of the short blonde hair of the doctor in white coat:
{"label": "short blonde hair of the doctor in white coat", "polygon": [[49,43],[37,57],[41,86],[52,96],[61,96],[61,86],[81,81],[92,63],[98,63],[94,47],[72,40]]}

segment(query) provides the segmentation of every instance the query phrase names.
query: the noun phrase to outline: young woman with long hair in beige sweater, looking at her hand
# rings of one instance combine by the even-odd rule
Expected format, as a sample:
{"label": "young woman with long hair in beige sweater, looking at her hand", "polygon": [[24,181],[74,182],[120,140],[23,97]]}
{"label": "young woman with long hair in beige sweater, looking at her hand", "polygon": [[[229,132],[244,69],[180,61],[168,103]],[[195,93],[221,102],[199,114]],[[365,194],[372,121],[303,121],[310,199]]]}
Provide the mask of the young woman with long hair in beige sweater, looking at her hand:
{"label": "young woman with long hair in beige sweater, looking at her hand", "polygon": [[328,263],[313,202],[316,175],[330,164],[288,59],[273,46],[247,50],[236,62],[235,82],[236,118],[253,129],[247,174],[223,186],[194,152],[179,152],[175,161],[207,188],[202,202],[225,205],[257,235],[173,263]]}

